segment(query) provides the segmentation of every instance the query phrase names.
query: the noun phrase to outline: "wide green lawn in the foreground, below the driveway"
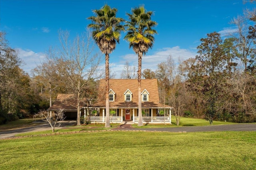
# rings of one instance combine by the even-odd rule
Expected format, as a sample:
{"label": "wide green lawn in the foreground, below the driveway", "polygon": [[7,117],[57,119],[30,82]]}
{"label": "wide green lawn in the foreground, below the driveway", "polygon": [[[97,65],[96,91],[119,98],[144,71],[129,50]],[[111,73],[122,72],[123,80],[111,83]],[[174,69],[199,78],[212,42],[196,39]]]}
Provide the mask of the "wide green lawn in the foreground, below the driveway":
{"label": "wide green lawn in the foreground, below the driveway", "polygon": [[252,170],[256,132],[104,131],[0,140],[1,170]]}

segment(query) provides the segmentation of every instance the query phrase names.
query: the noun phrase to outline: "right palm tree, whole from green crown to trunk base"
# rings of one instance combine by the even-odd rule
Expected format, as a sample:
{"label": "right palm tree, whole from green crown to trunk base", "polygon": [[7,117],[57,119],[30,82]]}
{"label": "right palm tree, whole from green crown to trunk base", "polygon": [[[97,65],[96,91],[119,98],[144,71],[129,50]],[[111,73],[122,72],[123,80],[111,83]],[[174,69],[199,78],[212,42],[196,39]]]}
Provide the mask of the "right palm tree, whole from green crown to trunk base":
{"label": "right palm tree, whole from green crown to trunk base", "polygon": [[129,16],[129,21],[125,25],[128,33],[124,37],[129,42],[129,48],[138,54],[138,108],[139,120],[138,126],[142,126],[142,107],[141,107],[141,62],[142,55],[146,55],[148,49],[152,49],[154,43],[153,35],[156,30],[152,27],[156,26],[156,21],[151,20],[152,11],[146,12],[144,6],[132,8],[132,14]]}

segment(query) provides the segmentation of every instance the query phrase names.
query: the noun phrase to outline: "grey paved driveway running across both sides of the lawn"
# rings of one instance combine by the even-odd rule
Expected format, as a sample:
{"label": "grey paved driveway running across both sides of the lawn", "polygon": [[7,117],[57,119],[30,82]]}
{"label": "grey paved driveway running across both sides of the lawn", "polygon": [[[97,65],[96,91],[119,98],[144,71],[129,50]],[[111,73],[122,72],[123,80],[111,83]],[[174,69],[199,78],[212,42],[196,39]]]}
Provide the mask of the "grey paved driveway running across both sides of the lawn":
{"label": "grey paved driveway running across both sides of the lawn", "polygon": [[[64,121],[61,127],[56,129],[61,129],[66,126],[74,125],[76,121]],[[42,124],[27,127],[22,129],[14,129],[9,131],[0,132],[0,139],[14,137],[18,133],[26,133],[33,131],[45,131],[51,130],[49,124]],[[159,127],[159,128],[133,128],[128,124],[120,125],[115,128],[116,130],[145,130],[145,131],[166,131],[166,132],[209,132],[209,131],[256,131],[256,124],[234,124],[234,125],[208,125],[208,126],[187,126],[187,127]],[[114,130],[114,129],[113,129]]]}

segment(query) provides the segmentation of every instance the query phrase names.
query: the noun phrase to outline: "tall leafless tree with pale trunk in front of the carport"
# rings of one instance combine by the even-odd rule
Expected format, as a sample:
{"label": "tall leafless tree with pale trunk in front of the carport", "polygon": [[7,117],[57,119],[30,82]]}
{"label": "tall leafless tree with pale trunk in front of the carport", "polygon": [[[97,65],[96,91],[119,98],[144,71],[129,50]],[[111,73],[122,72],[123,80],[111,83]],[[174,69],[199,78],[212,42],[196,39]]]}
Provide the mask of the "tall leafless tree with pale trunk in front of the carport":
{"label": "tall leafless tree with pale trunk in front of the carport", "polygon": [[[69,41],[68,31],[59,31],[60,47],[50,47],[46,57],[54,63],[59,81],[65,84],[68,92],[75,94],[77,100],[77,125],[80,123],[80,101],[90,94],[88,88],[95,79],[103,74],[99,65],[102,55],[94,52],[94,43],[90,37],[77,36],[73,43]],[[91,91],[90,91],[91,92]]]}

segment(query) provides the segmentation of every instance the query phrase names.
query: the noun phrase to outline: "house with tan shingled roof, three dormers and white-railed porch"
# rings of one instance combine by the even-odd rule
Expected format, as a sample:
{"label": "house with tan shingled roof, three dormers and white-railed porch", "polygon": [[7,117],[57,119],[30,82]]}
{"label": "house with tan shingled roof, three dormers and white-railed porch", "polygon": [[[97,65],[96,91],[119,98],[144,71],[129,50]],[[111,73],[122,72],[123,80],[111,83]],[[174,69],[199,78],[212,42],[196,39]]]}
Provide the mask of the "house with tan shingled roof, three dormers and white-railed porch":
{"label": "house with tan shingled roof, three dormers and white-railed porch", "polygon": [[[138,95],[142,99],[142,120],[144,122],[170,122],[172,107],[160,104],[157,79],[142,79],[141,94],[138,94],[138,80],[136,79],[110,79],[108,95],[110,122],[138,122]],[[104,79],[100,80],[97,102],[92,107],[86,108],[97,111],[96,116],[85,114],[91,122],[105,122]],[[167,114],[160,115],[160,111],[164,109]]]}

